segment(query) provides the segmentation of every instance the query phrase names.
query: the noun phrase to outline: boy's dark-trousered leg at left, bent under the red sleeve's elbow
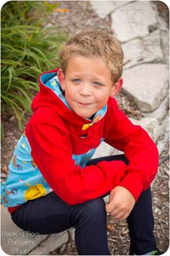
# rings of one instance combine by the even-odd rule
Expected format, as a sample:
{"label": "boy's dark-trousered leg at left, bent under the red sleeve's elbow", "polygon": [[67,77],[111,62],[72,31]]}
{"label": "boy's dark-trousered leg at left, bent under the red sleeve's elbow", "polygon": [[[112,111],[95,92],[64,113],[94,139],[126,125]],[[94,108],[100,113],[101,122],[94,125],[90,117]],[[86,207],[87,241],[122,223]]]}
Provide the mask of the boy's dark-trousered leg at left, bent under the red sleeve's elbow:
{"label": "boy's dark-trousered leg at left, bent under the red sleeve's elbow", "polygon": [[110,255],[102,197],[79,205],[68,205],[50,192],[26,202],[12,213],[12,219],[20,228],[39,234],[55,234],[74,227],[79,255]]}

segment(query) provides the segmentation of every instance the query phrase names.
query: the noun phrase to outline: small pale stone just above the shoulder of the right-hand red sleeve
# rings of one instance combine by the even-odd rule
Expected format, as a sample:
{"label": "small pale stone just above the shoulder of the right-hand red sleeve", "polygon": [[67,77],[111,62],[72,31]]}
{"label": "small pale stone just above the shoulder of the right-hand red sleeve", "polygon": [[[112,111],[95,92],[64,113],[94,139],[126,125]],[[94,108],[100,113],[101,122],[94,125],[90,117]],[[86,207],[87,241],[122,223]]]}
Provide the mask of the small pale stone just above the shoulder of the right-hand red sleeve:
{"label": "small pale stone just above the shoulder of the right-hand red sleeve", "polygon": [[130,121],[132,121],[133,124],[143,127],[154,142],[156,142],[158,137],[161,135],[161,126],[155,118],[144,117],[140,120],[130,118]]}

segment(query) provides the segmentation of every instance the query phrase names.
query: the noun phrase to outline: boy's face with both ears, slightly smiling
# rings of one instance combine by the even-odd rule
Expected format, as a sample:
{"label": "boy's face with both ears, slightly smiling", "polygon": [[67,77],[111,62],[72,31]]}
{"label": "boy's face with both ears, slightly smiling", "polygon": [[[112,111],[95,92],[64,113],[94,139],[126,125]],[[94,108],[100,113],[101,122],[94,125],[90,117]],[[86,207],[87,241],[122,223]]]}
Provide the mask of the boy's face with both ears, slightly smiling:
{"label": "boy's face with both ears, slightly smiling", "polygon": [[79,116],[89,119],[102,109],[122,87],[122,79],[113,85],[111,72],[102,59],[73,56],[66,74],[58,70],[58,80],[65,91],[66,101]]}

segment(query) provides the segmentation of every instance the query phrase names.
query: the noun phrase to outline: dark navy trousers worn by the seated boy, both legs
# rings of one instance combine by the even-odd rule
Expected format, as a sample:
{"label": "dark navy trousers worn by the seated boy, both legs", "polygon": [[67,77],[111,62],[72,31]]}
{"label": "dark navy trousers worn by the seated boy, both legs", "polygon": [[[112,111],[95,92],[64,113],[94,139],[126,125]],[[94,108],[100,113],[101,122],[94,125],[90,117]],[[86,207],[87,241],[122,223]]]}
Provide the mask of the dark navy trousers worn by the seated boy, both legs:
{"label": "dark navy trousers worn by the seated boy, both legs", "polygon": [[[124,155],[112,155],[91,160],[88,165],[103,160],[121,160],[128,164]],[[74,227],[79,255],[110,255],[107,244],[107,213],[102,197],[79,205],[68,205],[54,192],[50,192],[44,197],[24,203],[12,213],[12,220],[20,228],[39,234],[54,234]],[[127,221],[130,251],[143,255],[155,249],[151,189],[142,192]]]}

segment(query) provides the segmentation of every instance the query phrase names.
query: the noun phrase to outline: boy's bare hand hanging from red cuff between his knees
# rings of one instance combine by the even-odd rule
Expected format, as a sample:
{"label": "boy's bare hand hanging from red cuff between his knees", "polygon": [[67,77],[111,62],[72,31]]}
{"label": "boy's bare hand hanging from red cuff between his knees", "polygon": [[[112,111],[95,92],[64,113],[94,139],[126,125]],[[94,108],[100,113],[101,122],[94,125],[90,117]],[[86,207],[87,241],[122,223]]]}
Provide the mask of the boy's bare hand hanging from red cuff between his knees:
{"label": "boy's bare hand hanging from red cuff between his knees", "polygon": [[109,193],[109,202],[106,203],[106,211],[114,220],[125,220],[128,218],[133,206],[135,197],[125,187],[117,186]]}

